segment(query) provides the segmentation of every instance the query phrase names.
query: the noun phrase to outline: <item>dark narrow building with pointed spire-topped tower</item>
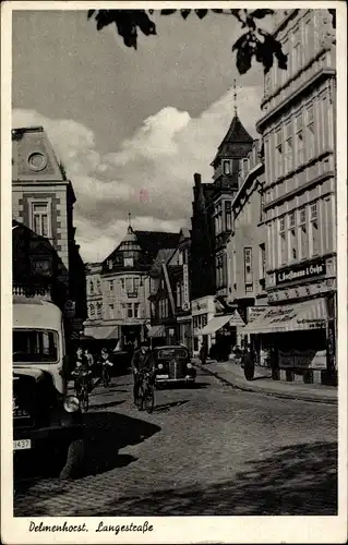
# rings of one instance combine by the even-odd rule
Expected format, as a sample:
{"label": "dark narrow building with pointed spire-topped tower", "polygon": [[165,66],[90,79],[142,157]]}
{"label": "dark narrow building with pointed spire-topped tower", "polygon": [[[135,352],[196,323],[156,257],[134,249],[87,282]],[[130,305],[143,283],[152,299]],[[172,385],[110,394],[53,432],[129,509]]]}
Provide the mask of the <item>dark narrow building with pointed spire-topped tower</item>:
{"label": "dark narrow building with pointed spire-topped tower", "polygon": [[[221,341],[227,342],[228,338],[231,344],[236,343],[236,326],[242,324],[236,314],[236,306],[228,307],[226,304],[226,243],[232,230],[232,201],[238,191],[239,160],[248,156],[252,143],[253,138],[236,111],[212,162],[213,183],[202,183],[201,175],[194,174],[191,218],[194,353],[199,352],[204,337],[211,347],[218,341],[219,332]],[[203,313],[202,306],[205,308]],[[204,323],[205,317],[209,318],[208,324]]]}

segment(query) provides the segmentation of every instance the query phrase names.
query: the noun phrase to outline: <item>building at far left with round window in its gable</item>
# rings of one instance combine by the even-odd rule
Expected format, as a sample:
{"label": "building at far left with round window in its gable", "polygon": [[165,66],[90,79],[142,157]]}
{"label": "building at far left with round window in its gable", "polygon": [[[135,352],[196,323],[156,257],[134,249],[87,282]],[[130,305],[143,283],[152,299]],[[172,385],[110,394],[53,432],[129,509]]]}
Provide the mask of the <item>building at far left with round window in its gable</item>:
{"label": "building at far left with round window in its gable", "polygon": [[[13,291],[31,291],[34,296],[46,296],[58,304],[64,314],[68,339],[77,337],[86,317],[84,265],[73,227],[74,203],[72,183],[44,129],[13,129]],[[23,240],[17,244],[20,232]]]}

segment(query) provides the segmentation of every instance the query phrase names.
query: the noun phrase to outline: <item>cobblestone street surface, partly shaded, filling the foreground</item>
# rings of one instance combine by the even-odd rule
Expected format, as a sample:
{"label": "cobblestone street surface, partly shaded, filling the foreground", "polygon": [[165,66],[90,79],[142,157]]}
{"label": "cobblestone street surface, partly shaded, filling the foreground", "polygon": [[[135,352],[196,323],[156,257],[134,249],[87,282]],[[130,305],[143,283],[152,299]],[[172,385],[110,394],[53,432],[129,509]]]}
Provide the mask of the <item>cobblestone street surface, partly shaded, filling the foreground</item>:
{"label": "cobblestone street surface, partly shaded, filling the foreground", "polygon": [[336,514],[337,408],[237,391],[200,372],[194,388],[131,402],[131,376],[91,396],[84,476],[21,472],[14,513]]}

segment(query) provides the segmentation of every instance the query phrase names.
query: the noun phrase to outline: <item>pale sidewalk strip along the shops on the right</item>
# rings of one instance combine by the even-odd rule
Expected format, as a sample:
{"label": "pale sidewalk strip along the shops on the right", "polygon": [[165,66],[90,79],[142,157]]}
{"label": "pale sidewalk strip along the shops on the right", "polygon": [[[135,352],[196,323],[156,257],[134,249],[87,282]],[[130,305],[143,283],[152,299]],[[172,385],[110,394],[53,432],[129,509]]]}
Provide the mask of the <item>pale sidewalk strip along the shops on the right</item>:
{"label": "pale sidewalk strip along the shops on the right", "polygon": [[195,359],[194,365],[239,390],[254,391],[277,398],[337,404],[337,388],[319,384],[273,380],[271,370],[265,367],[255,366],[253,380],[247,380],[240,364],[232,361],[220,363],[208,360],[205,365],[202,365],[200,360]]}

